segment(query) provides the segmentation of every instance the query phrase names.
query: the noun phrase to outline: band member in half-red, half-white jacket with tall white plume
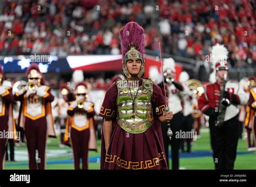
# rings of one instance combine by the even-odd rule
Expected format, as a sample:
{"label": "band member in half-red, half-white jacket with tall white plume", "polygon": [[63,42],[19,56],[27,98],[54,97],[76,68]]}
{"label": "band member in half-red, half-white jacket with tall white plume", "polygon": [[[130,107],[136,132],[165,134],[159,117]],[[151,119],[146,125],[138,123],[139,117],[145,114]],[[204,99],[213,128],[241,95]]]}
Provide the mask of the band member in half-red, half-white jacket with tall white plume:
{"label": "band member in half-red, half-white jacket with tall white plume", "polygon": [[[239,105],[248,98],[239,83],[227,81],[227,54],[223,45],[212,48],[216,82],[207,84],[198,99],[199,109],[210,117],[211,145],[215,169],[234,169],[239,138]],[[225,89],[224,89],[225,88]]]}

